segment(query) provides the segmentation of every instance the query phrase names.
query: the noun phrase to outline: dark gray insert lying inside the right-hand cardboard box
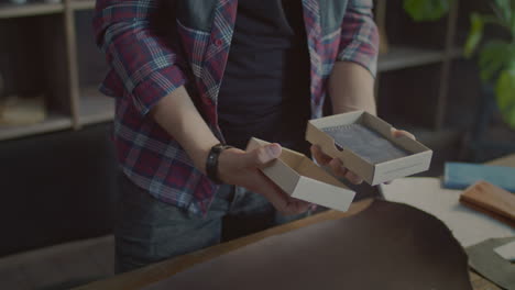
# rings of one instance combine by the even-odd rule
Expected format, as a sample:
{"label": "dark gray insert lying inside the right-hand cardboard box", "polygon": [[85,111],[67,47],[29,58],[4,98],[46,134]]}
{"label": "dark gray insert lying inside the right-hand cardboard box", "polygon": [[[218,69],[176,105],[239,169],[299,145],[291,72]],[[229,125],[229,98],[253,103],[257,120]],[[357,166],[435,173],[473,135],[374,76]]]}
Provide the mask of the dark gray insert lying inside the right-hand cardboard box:
{"label": "dark gray insert lying inside the right-hand cardboard box", "polygon": [[371,164],[380,164],[409,155],[409,152],[381,136],[375,131],[359,124],[347,124],[322,129],[335,143],[352,150]]}

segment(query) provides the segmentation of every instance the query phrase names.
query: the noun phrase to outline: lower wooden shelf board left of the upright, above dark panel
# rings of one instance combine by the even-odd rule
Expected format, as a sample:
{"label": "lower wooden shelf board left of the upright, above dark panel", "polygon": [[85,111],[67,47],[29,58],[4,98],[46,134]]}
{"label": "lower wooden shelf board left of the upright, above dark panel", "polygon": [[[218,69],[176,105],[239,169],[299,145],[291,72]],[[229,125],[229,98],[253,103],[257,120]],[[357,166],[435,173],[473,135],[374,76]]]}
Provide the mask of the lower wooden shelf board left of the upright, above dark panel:
{"label": "lower wooden shelf board left of the upright, above dark panel", "polygon": [[50,133],[72,127],[72,118],[50,113],[45,121],[32,125],[0,126],[0,141]]}

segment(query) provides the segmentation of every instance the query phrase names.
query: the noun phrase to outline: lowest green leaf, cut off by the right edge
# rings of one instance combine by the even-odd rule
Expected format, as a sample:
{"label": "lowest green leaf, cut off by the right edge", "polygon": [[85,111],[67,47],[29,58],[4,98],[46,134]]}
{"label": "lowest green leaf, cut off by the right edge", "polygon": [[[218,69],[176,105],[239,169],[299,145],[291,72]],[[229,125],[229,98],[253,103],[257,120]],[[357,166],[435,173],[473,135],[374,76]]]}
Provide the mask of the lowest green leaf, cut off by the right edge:
{"label": "lowest green leaf, cut off by the right edge", "polygon": [[495,98],[504,121],[515,129],[515,69],[501,71],[495,86]]}

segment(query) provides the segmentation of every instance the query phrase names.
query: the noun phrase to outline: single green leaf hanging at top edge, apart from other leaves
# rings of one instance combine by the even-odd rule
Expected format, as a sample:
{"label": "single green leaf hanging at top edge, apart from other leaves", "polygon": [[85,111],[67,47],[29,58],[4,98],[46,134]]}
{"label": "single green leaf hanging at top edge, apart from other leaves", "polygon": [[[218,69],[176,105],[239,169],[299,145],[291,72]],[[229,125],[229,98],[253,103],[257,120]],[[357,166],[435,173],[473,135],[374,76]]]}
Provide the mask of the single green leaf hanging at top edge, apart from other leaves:
{"label": "single green leaf hanging at top edge, apart from other leaves", "polygon": [[434,21],[449,11],[452,1],[454,0],[404,0],[404,10],[415,21]]}

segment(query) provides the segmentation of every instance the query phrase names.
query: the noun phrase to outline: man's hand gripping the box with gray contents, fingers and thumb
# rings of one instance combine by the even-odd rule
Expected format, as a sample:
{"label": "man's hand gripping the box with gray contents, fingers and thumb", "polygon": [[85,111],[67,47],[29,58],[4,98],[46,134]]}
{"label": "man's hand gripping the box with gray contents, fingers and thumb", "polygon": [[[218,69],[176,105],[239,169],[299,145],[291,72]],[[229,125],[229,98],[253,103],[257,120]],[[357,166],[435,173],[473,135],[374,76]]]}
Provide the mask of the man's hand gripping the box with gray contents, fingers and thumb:
{"label": "man's hand gripping the box with gray contents, fingers and thumb", "polygon": [[[409,138],[415,140],[415,136],[412,133],[404,130],[392,129],[392,136],[396,138],[401,136],[407,136]],[[346,165],[342,164],[340,159],[331,158],[330,156],[324,154],[320,147],[313,145],[311,154],[319,165],[329,166],[336,176],[344,177],[354,185],[360,185],[361,182],[363,182],[363,179],[354,172],[347,169]]]}

